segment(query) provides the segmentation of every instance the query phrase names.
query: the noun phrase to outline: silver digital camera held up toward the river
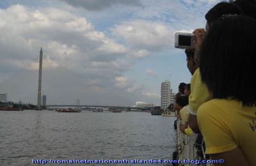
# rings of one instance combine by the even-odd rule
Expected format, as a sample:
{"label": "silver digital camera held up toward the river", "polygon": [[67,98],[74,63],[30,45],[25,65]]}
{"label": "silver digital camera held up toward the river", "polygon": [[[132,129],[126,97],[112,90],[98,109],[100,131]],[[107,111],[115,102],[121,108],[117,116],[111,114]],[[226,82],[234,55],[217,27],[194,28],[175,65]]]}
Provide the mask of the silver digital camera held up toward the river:
{"label": "silver digital camera held up toward the river", "polygon": [[175,48],[195,49],[195,35],[193,33],[175,33]]}

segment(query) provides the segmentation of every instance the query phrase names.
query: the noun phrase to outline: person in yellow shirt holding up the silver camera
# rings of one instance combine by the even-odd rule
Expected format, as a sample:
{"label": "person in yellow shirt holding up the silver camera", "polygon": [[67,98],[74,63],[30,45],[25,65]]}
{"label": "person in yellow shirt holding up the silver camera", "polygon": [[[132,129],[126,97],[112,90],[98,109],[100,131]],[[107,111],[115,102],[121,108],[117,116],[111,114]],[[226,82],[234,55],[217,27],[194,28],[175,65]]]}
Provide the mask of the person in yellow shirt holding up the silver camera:
{"label": "person in yellow shirt holding up the silver camera", "polygon": [[[200,63],[200,47],[202,42],[204,41],[205,34],[211,28],[212,22],[214,20],[220,18],[225,14],[241,14],[241,10],[238,6],[233,3],[225,3],[221,2],[216,4],[211,10],[209,10],[205,19],[207,20],[207,24],[204,29],[196,29],[193,33],[195,34],[195,63]],[[202,103],[207,102],[211,99],[209,92],[207,91],[207,87],[204,82],[201,80],[200,70],[196,69],[195,73],[191,78],[191,95],[189,96],[189,126],[192,128],[193,132],[198,133],[198,124],[196,121],[196,112]]]}

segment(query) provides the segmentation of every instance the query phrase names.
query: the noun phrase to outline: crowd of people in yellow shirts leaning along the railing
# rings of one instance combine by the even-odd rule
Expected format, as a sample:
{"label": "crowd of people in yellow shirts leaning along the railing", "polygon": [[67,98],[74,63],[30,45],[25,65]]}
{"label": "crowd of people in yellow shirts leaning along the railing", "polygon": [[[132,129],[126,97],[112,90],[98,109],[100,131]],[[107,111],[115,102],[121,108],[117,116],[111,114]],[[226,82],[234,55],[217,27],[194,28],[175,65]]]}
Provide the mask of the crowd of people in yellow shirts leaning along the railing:
{"label": "crowd of people in yellow shirts leaning along the railing", "polygon": [[205,154],[225,165],[256,165],[256,1],[221,2],[186,49],[190,84],[174,109],[182,133],[197,133]]}

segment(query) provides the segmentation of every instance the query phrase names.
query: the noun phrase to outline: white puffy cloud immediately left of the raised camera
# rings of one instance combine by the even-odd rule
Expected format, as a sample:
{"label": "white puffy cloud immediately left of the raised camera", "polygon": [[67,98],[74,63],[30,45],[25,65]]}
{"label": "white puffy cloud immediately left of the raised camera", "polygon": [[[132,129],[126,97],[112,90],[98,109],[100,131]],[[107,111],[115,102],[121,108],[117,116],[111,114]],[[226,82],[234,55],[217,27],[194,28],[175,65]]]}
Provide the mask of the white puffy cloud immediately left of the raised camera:
{"label": "white puffy cloud immediately left of the raised camera", "polygon": [[125,21],[112,28],[111,32],[122,38],[132,49],[156,51],[173,45],[174,31],[161,22]]}

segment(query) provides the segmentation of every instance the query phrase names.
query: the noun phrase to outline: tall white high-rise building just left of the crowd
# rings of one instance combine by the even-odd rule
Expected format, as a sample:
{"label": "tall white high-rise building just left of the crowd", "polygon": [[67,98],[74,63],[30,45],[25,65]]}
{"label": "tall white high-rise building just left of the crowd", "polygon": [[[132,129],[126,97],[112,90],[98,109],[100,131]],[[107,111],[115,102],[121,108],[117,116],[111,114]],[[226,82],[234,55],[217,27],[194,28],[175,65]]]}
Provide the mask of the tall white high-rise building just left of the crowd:
{"label": "tall white high-rise building just left of the crowd", "polygon": [[174,103],[174,93],[171,89],[171,82],[165,80],[161,84],[161,109],[167,109],[171,103]]}

